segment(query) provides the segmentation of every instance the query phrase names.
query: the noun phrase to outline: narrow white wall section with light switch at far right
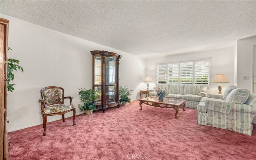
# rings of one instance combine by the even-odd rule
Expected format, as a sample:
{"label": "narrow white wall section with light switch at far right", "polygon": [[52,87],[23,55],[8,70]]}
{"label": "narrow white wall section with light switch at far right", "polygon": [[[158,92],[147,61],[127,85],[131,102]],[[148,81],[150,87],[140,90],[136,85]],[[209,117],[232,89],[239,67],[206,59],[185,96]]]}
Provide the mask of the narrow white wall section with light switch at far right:
{"label": "narrow white wall section with light switch at far right", "polygon": [[[256,45],[256,36],[237,41],[237,86],[252,92],[253,88],[253,46]],[[249,80],[244,80],[249,76]]]}

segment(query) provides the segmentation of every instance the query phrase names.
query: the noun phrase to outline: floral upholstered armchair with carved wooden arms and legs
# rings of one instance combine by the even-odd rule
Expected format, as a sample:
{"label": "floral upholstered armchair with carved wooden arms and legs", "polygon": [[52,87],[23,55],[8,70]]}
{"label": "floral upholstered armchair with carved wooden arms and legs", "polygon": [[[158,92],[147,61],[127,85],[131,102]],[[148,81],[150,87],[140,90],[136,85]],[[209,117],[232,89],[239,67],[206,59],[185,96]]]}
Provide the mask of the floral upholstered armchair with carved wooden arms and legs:
{"label": "floral upholstered armchair with carved wooden arms and legs", "polygon": [[[75,123],[76,107],[72,105],[71,96],[64,97],[64,89],[61,87],[49,86],[41,90],[41,114],[43,116],[43,128],[46,135],[47,116],[62,115],[62,121],[65,122],[64,114],[73,111],[73,125]],[[64,104],[64,99],[70,99],[70,105]]]}

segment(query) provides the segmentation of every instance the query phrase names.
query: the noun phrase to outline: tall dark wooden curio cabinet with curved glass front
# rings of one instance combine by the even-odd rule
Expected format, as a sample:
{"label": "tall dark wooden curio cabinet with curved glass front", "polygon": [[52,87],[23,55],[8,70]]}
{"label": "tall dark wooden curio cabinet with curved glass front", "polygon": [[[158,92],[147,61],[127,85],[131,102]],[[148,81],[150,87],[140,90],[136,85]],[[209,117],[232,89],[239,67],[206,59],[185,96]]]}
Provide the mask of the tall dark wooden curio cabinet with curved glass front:
{"label": "tall dark wooden curio cabinet with curved glass front", "polygon": [[92,53],[92,88],[100,93],[94,103],[97,109],[119,105],[119,60],[121,55],[108,51]]}

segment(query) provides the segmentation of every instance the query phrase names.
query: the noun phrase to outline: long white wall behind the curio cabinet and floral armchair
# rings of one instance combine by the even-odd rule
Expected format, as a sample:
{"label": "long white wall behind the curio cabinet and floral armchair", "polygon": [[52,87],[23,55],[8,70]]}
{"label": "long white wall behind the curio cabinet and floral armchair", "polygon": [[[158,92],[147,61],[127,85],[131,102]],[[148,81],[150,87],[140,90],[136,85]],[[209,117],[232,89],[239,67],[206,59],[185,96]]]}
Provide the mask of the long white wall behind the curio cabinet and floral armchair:
{"label": "long white wall behind the curio cabinet and floral armchair", "polygon": [[[46,86],[61,86],[65,96],[73,96],[73,105],[80,104],[77,90],[92,88],[92,50],[116,52],[120,60],[120,85],[127,85],[132,100],[139,98],[139,90],[145,89],[146,60],[100,44],[44,28],[4,14],[10,20],[9,44],[13,51],[9,58],[20,60],[24,72],[15,72],[14,92],[8,92],[8,131],[42,124],[38,99]],[[65,100],[69,103],[69,100]],[[76,108],[76,114],[81,114]],[[65,116],[71,116],[67,113]],[[48,122],[61,119],[49,116]],[[70,124],[71,125],[71,124]]]}

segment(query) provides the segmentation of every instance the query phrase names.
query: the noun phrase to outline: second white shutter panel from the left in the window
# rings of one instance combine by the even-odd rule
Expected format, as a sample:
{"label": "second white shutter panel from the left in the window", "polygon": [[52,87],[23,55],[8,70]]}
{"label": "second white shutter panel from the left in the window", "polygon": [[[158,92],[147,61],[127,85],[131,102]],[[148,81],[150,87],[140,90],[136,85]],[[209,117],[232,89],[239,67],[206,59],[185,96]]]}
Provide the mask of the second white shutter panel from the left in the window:
{"label": "second white shutter panel from the left in the window", "polygon": [[179,84],[179,63],[168,64],[168,83]]}

